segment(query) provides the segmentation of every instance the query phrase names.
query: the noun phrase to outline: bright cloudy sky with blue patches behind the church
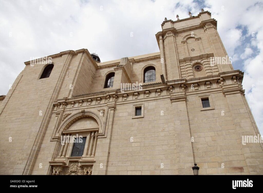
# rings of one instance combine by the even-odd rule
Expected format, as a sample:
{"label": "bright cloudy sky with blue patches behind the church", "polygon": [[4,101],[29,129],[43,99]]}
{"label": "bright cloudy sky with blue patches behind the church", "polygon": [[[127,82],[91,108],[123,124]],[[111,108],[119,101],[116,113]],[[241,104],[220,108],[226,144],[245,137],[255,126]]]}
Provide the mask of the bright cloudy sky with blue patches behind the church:
{"label": "bright cloudy sky with blue patches behind the church", "polygon": [[234,69],[245,72],[246,98],[263,134],[262,1],[0,0],[0,95],[31,57],[87,48],[109,61],[157,52],[164,18],[187,18],[201,8],[218,21]]}

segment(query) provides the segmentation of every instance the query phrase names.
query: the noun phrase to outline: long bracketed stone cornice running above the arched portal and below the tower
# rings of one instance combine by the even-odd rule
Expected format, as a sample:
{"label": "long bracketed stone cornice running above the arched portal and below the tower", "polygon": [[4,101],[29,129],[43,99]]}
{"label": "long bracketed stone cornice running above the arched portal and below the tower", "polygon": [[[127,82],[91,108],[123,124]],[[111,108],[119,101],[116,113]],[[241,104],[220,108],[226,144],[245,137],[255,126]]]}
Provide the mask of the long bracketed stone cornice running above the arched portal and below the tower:
{"label": "long bracketed stone cornice running above the arched portal and below the tower", "polygon": [[[170,98],[171,102],[185,100],[186,96],[198,95],[202,93],[226,94],[244,93],[240,81],[243,72],[239,70],[222,72],[217,75],[210,75],[193,79],[169,80],[165,84],[154,82],[144,84],[135,90],[105,90],[94,93],[74,96],[72,98],[62,98],[55,100],[54,112],[66,111],[82,108],[109,108],[117,104],[133,103],[138,101],[151,101],[161,98]],[[213,85],[210,86],[210,85]],[[192,90],[194,86],[194,90]],[[69,112],[70,113],[70,112]]]}

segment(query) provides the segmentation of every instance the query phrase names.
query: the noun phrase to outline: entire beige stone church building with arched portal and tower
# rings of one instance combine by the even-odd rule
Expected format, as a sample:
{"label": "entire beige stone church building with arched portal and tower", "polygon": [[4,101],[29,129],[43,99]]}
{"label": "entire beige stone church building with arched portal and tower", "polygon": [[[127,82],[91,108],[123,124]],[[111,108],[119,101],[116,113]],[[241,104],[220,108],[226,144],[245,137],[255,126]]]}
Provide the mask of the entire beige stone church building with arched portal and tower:
{"label": "entire beige stone church building with arched portal and tower", "polygon": [[0,96],[0,174],[193,175],[194,163],[199,174],[262,174],[262,143],[242,143],[259,135],[244,73],[216,20],[202,10],[161,27],[158,53],[25,62]]}

